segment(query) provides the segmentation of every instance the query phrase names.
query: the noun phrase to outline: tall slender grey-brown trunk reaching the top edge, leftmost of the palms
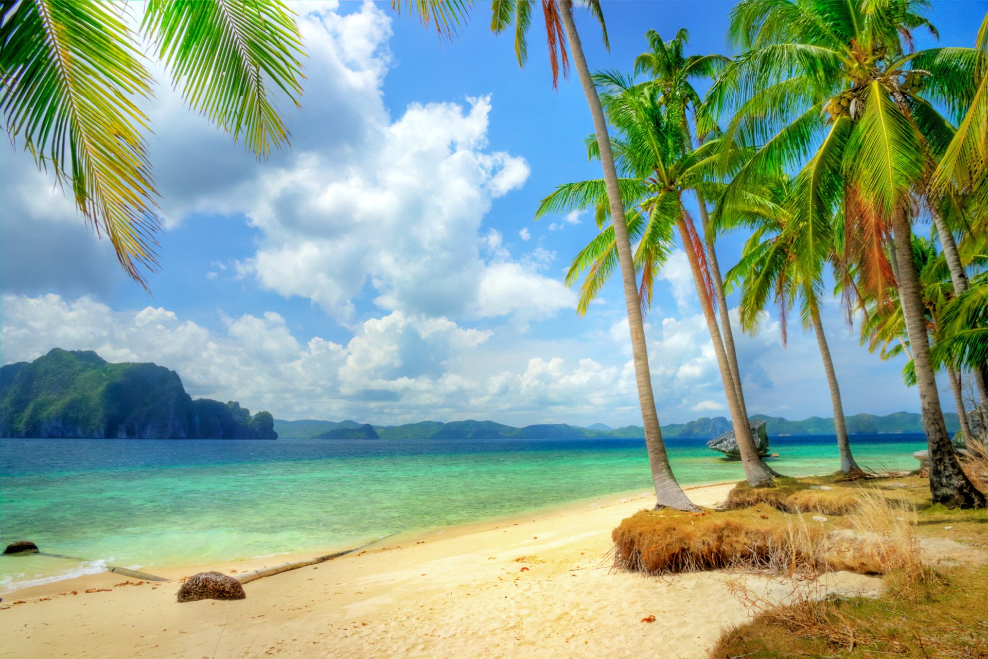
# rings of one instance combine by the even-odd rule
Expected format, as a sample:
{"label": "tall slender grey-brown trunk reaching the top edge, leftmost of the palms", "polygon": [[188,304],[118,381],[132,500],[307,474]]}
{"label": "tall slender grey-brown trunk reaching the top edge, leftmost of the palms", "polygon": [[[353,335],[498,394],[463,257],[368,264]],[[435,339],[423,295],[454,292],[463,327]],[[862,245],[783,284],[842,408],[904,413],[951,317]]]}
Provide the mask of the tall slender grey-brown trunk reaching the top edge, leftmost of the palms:
{"label": "tall slender grey-brown trunk reaching the top edge, leftmost of the palms", "polygon": [[597,88],[594,87],[590,78],[590,69],[587,68],[587,59],[583,54],[580,36],[576,32],[576,24],[573,23],[573,4],[570,0],[560,0],[558,8],[559,17],[566,30],[566,40],[569,41],[570,51],[573,54],[573,65],[580,77],[583,93],[587,97],[587,105],[590,106],[594,130],[597,133],[597,144],[601,151],[601,163],[604,165],[604,182],[608,191],[608,201],[611,204],[617,261],[620,265],[624,305],[627,308],[627,325],[631,335],[634,379],[638,387],[641,420],[645,426],[645,449],[648,452],[648,462],[652,468],[652,481],[655,484],[656,508],[668,507],[678,510],[699,511],[700,508],[690,501],[683,488],[676,482],[676,477],[669,466],[665,443],[662,441],[662,429],[659,426],[659,417],[655,411],[652,377],[648,367],[645,328],[642,324],[638,287],[635,283],[631,242],[627,235],[624,205],[621,201],[620,189],[617,186],[617,170],[615,169],[614,155],[611,152],[611,138],[608,135],[604,110],[601,107],[601,100],[597,96]]}

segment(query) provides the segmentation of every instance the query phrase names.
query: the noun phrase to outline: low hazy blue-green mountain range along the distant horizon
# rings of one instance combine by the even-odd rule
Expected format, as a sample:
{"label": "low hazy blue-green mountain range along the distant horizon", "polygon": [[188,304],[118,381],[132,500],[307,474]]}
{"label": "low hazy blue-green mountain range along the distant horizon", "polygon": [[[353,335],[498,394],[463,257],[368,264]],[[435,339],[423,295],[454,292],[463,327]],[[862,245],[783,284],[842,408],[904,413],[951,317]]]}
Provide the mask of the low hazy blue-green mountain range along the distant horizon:
{"label": "low hazy blue-green mountain range along the distant horizon", "polygon": [[[957,415],[947,412],[947,430],[954,433],[959,428]],[[790,421],[783,417],[756,414],[752,420],[768,422],[770,435],[833,435],[834,420],[810,417]],[[856,414],[847,418],[850,433],[921,433],[923,419],[915,412],[896,412],[885,416]],[[284,421],[275,419],[279,437],[294,439],[373,439],[381,440],[493,440],[493,439],[641,439],[645,430],[641,426],[611,428],[605,424],[593,424],[582,428],[568,424],[536,424],[516,428],[494,421],[420,421],[402,426],[372,426],[356,421],[317,421],[302,419]],[[665,437],[716,437],[731,430],[725,417],[700,417],[689,423],[672,423],[662,427]]]}

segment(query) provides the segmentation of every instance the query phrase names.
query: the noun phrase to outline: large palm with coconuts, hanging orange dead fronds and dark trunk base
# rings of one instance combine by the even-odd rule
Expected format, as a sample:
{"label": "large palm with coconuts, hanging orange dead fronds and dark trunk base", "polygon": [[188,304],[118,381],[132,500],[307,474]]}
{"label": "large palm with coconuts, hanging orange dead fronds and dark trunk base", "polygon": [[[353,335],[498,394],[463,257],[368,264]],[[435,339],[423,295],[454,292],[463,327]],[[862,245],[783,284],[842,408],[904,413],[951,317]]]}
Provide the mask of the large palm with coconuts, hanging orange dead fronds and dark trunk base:
{"label": "large palm with coconuts, hanging orange dead fronds and dark trunk base", "polygon": [[[845,233],[861,238],[855,254],[864,286],[880,294],[888,284],[898,285],[933,499],[949,507],[984,507],[984,494],[960,468],[947,435],[912,260],[913,195],[928,192],[931,144],[949,131],[912,84],[925,77],[910,68],[913,55],[907,54],[911,32],[931,27],[920,14],[923,7],[921,0],[742,0],[731,12],[728,34],[743,53],[724,69],[709,98],[714,111],[734,112],[725,126],[732,141],[760,147],[728,196],[798,168],[806,185],[796,211],[828,215],[843,205]],[[940,54],[948,57],[944,50]],[[883,249],[891,236],[898,278]]]}

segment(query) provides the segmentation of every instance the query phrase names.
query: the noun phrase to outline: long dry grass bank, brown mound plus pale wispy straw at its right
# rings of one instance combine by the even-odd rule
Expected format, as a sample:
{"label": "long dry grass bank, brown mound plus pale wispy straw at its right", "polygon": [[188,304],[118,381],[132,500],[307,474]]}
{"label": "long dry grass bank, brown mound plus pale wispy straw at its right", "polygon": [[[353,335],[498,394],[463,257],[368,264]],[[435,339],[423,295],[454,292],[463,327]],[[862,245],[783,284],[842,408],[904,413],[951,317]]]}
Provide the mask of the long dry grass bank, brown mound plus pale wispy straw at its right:
{"label": "long dry grass bank, brown mound plus pale wispy straw at its right", "polygon": [[812,577],[827,570],[901,572],[909,575],[903,583],[923,581],[929,575],[920,561],[916,509],[898,493],[892,496],[859,485],[842,488],[840,500],[853,502],[845,507],[854,512],[822,519],[764,503],[694,514],[641,511],[612,534],[615,567],[649,574],[733,568]]}

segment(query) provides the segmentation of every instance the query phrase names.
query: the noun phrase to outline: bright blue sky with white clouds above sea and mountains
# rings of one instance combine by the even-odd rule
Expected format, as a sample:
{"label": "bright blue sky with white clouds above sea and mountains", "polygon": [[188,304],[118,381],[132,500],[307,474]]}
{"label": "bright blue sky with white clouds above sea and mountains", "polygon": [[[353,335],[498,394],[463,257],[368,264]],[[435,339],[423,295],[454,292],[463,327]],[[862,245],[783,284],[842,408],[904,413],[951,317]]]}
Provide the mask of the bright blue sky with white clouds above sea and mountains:
{"label": "bright blue sky with white clouds above sea and mountains", "polygon": [[[575,78],[552,90],[540,24],[523,70],[483,6],[453,43],[390,3],[295,7],[308,57],[290,151],[258,163],[167,83],[147,109],[164,222],[151,297],[30,157],[2,147],[2,362],[93,349],[287,419],[638,423],[620,291],[580,318],[561,284],[593,221],[533,221],[556,185],[600,176],[583,93]],[[593,68],[629,70],[649,28],[727,52],[730,7],[605,3],[610,53],[577,21]],[[936,3],[940,43],[973,43],[986,10]],[[720,240],[722,266],[742,239]],[[692,287],[674,253],[647,319],[667,423],[726,413]],[[901,364],[861,348],[836,301],[825,323],[849,413],[918,409]],[[752,413],[831,414],[812,335],[790,329],[782,350],[768,320],[739,351]]]}

